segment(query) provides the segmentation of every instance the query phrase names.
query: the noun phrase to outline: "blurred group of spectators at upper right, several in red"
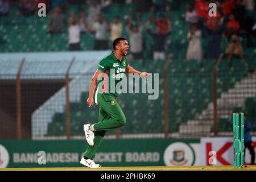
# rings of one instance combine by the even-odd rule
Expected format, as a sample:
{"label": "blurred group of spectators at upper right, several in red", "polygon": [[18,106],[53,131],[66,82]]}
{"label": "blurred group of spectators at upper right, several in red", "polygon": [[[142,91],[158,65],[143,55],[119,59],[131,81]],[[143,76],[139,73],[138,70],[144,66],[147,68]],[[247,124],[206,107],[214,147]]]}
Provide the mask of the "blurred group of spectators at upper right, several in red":
{"label": "blurred group of spectators at upper right, several in red", "polygon": [[[209,3],[217,5],[216,16],[209,16]],[[242,59],[244,48],[255,45],[253,0],[204,1],[195,0],[187,5],[185,20],[191,27],[188,32],[187,60],[217,59],[221,53],[221,42],[227,40],[224,56],[228,59]],[[202,38],[207,38],[202,51]],[[242,44],[245,42],[246,44]]]}

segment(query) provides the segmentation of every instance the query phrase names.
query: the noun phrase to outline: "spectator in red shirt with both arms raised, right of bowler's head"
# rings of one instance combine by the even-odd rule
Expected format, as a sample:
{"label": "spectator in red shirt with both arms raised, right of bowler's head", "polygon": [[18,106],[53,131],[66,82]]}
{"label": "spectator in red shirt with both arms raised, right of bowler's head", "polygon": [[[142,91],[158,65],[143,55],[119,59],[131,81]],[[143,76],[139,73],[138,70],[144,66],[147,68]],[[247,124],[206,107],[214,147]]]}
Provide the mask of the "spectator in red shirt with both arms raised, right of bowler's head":
{"label": "spectator in red shirt with both arms raised, right of bowler's head", "polygon": [[160,28],[160,32],[163,35],[166,35],[168,30],[171,30],[171,13],[170,13],[170,7],[166,6],[166,11],[168,14],[168,18],[167,20],[164,19],[164,15],[163,14],[159,14],[158,16],[158,20],[155,20],[153,18],[153,13],[154,13],[155,7],[151,7],[150,9],[150,16],[148,18],[148,20],[150,20],[150,22],[153,22],[155,24],[156,27]]}

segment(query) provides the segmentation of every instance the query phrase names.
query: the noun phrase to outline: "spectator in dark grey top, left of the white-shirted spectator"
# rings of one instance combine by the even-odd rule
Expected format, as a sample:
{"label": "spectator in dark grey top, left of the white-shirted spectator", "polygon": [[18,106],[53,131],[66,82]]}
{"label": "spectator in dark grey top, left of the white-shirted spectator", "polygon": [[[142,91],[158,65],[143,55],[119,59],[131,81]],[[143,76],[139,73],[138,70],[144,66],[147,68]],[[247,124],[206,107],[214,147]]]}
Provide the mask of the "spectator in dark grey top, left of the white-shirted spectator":
{"label": "spectator in dark grey top, left of the white-shirted spectator", "polygon": [[61,33],[64,31],[65,17],[61,12],[60,6],[55,7],[50,16],[48,24],[48,32],[51,34]]}

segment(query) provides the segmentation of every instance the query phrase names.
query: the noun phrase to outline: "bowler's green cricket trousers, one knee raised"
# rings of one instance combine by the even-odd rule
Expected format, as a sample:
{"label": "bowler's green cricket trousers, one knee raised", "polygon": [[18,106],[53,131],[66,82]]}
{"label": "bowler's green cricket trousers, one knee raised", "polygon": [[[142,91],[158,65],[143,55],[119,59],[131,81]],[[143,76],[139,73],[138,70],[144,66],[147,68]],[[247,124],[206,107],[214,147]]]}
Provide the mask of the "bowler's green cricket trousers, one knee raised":
{"label": "bowler's green cricket trousers, one knee raised", "polygon": [[98,147],[100,146],[101,140],[107,130],[117,129],[125,125],[126,118],[125,114],[119,104],[117,103],[117,97],[110,93],[97,93],[95,102],[100,105],[98,113],[98,122],[94,124],[94,145],[88,146],[84,152],[84,156],[93,160]]}

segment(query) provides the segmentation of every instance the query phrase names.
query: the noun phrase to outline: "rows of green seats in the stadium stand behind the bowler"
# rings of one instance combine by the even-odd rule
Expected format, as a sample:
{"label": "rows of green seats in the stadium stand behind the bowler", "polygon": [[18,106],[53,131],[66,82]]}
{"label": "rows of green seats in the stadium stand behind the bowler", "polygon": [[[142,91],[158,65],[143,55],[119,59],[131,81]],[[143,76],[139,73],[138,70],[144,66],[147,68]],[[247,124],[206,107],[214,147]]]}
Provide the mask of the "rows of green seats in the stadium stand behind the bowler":
{"label": "rows of green seats in the stadium stand behind the bowler", "polygon": [[[193,2],[193,1],[186,1]],[[212,93],[212,71],[216,60],[185,60],[185,53],[187,50],[187,34],[189,31],[189,24],[184,20],[185,3],[180,5],[177,1],[172,1],[171,5],[171,36],[167,40],[168,53],[173,53],[170,67],[168,69],[168,103],[169,103],[169,131],[174,136],[180,137],[182,134],[191,132],[191,125],[196,121],[207,123],[209,118],[204,118],[204,113],[209,114],[212,109],[213,93]],[[68,6],[65,11],[65,18],[68,18],[69,11],[74,11],[76,14],[79,9],[88,9],[88,5]],[[121,7],[119,3],[112,3],[108,9],[104,10],[105,18],[111,21],[113,17],[119,13],[131,14],[135,9],[134,3]],[[12,6],[10,15],[0,18],[0,52],[48,52],[48,51],[68,51],[68,31],[67,27],[61,34],[47,33],[47,26],[49,23],[49,16],[45,18],[38,18],[38,16],[16,16],[17,6]],[[163,13],[166,15],[166,12]],[[154,14],[157,18],[159,13]],[[134,16],[134,15],[131,15]],[[253,14],[252,16],[255,16]],[[144,26],[148,18],[148,12],[141,14]],[[255,20],[255,17],[253,17]],[[124,21],[125,18],[121,17]],[[138,23],[134,20],[134,23]],[[151,24],[154,28],[154,24]],[[18,36],[17,36],[18,35]],[[123,35],[127,36],[126,28],[123,26]],[[228,46],[228,39],[221,40],[221,52],[225,52]],[[255,47],[247,46],[247,38],[242,38],[242,44],[245,48],[245,57],[243,59],[222,59],[217,72],[217,96],[218,99],[223,99],[229,95],[232,90],[236,90],[236,86],[241,84],[243,80],[250,79],[251,72],[255,71],[256,49]],[[208,39],[203,36],[201,44],[203,52],[207,45]],[[110,44],[111,45],[111,44]],[[93,34],[81,34],[81,49],[82,51],[92,51],[94,46]],[[110,46],[109,46],[110,47]],[[146,65],[142,64],[141,60],[133,60],[130,64],[138,70],[147,70],[151,73],[161,73],[159,76],[159,88],[163,88],[163,61],[152,60],[152,39],[144,31],[144,57]],[[111,47],[110,47],[111,48]],[[2,58],[0,58],[2,59]],[[13,61],[13,60],[12,60]],[[1,65],[12,64],[11,61],[1,60]],[[46,64],[46,63],[44,63]],[[32,67],[32,65],[29,65]],[[65,64],[61,65],[65,67]],[[2,67],[2,66],[1,66]],[[40,65],[36,65],[40,69]],[[43,67],[43,66],[42,66]],[[59,67],[54,67],[60,70]],[[81,68],[77,65],[77,68]],[[16,71],[16,67],[15,69]],[[29,69],[29,68],[27,68]],[[31,69],[31,68],[30,68]],[[1,69],[2,70],[2,69]],[[50,69],[46,69],[50,70]],[[11,69],[10,71],[11,72]],[[2,73],[1,73],[2,75]],[[243,94],[243,93],[242,93]],[[71,102],[71,133],[72,135],[83,135],[81,127],[85,123],[92,123],[97,121],[96,107],[88,109],[86,107],[86,97],[88,92],[80,92],[80,99]],[[164,129],[164,109],[163,109],[163,90],[160,89],[158,100],[147,100],[147,94],[130,94],[129,97],[120,96],[119,104],[122,106],[127,117],[127,125],[121,129],[121,134],[138,134],[138,133],[163,133]],[[248,112],[248,117],[256,122],[255,110],[256,96],[243,96],[242,103],[237,108],[231,110],[242,110]],[[146,106],[147,110],[142,106]],[[61,105],[64,108],[64,103]],[[230,105],[231,107],[231,105]],[[230,108],[228,109],[230,110]],[[209,112],[208,112],[209,111]],[[145,113],[146,112],[146,113]],[[202,119],[203,117],[203,119]],[[205,120],[204,120],[205,119]],[[210,118],[212,119],[212,118]],[[255,126],[254,122],[254,126]],[[225,113],[220,114],[218,118],[219,131],[231,131],[231,115]],[[189,127],[188,127],[189,125]],[[201,125],[199,125],[201,126]],[[50,121],[47,123],[47,131],[43,132],[45,136],[61,136],[65,135],[65,111],[64,109],[55,111],[51,114]],[[36,129],[37,130],[37,129]],[[209,135],[212,131],[212,125],[203,128],[205,134]],[[196,131],[196,129],[195,129]],[[209,131],[209,132],[208,132]],[[201,130],[200,130],[201,132]],[[114,134],[111,131],[109,134]]]}

